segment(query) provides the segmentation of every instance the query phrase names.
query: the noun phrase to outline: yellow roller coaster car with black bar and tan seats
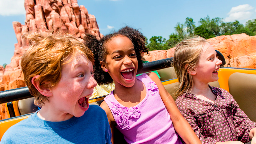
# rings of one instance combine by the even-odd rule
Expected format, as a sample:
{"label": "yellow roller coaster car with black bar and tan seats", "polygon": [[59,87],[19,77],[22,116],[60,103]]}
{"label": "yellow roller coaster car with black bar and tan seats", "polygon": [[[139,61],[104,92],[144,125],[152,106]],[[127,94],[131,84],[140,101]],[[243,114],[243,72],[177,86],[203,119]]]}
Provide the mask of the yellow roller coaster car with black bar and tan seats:
{"label": "yellow roller coaster car with black bar and tan seats", "polygon": [[[223,67],[226,64],[225,59],[219,51],[216,52],[218,58],[222,61],[219,80],[211,82],[209,85],[229,91],[245,114],[252,121],[256,121],[256,69]],[[173,96],[178,79],[172,67],[172,60],[173,58],[168,58],[144,63],[143,69],[137,74],[157,70],[166,90]],[[91,99],[89,103],[100,105],[105,96]],[[174,99],[176,98],[174,97]],[[37,111],[37,107],[33,105],[33,97],[28,92],[27,87],[0,92],[0,103],[6,103],[9,117],[9,119],[0,120],[0,139],[10,126],[26,119]],[[114,133],[115,141],[120,141],[120,135],[122,134],[116,135],[116,132]]]}

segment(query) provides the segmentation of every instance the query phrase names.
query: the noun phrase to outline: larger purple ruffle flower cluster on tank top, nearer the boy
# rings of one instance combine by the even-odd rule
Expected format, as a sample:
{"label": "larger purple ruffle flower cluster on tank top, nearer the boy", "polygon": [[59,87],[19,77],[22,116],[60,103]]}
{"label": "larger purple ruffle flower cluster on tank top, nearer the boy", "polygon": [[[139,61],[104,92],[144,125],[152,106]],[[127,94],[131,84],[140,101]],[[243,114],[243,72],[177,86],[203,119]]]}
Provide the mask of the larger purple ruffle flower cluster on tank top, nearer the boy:
{"label": "larger purple ruffle flower cluster on tank top, nearer the boy", "polygon": [[123,107],[119,104],[112,102],[112,110],[114,114],[119,116],[117,125],[122,129],[130,128],[128,120],[131,118],[138,119],[140,117],[140,111],[137,107]]}

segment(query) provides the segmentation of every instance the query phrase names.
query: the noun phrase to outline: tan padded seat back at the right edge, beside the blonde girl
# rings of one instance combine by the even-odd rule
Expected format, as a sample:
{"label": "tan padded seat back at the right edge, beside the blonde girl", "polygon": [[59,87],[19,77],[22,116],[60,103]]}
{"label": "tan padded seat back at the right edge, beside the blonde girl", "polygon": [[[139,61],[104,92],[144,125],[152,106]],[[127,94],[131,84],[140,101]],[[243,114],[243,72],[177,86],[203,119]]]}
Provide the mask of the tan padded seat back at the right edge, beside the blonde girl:
{"label": "tan padded seat back at the right edge, beside the blonde girl", "polygon": [[229,77],[229,91],[240,109],[256,121],[256,75],[235,72]]}

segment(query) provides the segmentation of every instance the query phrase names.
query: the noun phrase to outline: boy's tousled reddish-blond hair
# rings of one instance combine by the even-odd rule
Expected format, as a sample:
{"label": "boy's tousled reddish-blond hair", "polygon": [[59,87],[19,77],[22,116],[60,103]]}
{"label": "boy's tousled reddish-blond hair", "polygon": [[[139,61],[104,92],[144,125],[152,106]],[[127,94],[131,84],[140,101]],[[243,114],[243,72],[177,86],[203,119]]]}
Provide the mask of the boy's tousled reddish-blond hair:
{"label": "boy's tousled reddish-blond hair", "polygon": [[[35,82],[39,82],[39,87],[51,88],[61,79],[62,66],[71,62],[78,54],[86,56],[88,62],[94,64],[91,50],[73,35],[63,34],[60,31],[54,34],[38,31],[28,32],[23,37],[29,40],[30,45],[21,59],[22,72],[37,106],[43,106],[48,99],[32,84],[31,80],[34,76],[40,75],[35,79]],[[45,81],[50,83],[44,84]]]}

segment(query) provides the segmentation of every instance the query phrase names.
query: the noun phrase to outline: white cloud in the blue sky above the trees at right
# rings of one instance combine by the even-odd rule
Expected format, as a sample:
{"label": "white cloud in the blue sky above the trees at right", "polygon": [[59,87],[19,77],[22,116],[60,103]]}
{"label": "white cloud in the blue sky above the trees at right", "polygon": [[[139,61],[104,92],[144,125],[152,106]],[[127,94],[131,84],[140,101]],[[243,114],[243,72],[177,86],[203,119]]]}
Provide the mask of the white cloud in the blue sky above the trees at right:
{"label": "white cloud in the blue sky above the trees at right", "polygon": [[252,9],[254,8],[248,4],[232,7],[230,12],[228,13],[229,16],[224,19],[224,22],[233,22],[235,20],[248,20],[252,15],[252,12],[250,12],[250,10]]}

